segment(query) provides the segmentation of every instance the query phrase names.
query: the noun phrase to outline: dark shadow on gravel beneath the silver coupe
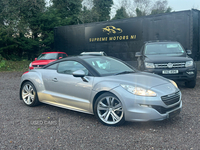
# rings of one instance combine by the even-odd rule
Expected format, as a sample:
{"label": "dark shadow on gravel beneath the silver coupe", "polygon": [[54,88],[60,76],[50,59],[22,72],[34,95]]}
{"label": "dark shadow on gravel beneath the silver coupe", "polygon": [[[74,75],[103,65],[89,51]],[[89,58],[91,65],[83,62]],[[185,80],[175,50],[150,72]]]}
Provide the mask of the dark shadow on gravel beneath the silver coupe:
{"label": "dark shadow on gravel beneath the silver coupe", "polygon": [[[110,127],[101,124],[98,119],[91,114],[81,113],[73,110],[68,110],[64,108],[59,108],[56,106],[48,105],[48,104],[41,104],[38,106],[39,109],[43,109],[48,111],[51,114],[51,117],[54,118],[61,118],[61,120],[65,120],[67,124],[70,124],[70,119],[73,120],[74,123],[72,124],[84,124],[86,125],[94,125],[96,127]],[[126,121],[121,126],[114,126],[114,128],[134,128],[134,129],[158,129],[158,128],[167,128],[170,126],[176,126],[181,120],[181,117],[175,116],[174,118],[169,118],[162,121],[148,121],[148,122],[128,122]],[[111,127],[113,128],[113,127]]]}

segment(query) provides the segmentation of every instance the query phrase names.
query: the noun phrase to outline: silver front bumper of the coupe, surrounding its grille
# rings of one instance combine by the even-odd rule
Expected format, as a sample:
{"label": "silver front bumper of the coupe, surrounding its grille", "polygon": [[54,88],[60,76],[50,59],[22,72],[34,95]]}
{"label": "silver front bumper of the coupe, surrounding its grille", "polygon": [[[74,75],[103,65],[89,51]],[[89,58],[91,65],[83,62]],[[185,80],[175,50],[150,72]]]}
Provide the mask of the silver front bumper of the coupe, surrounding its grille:
{"label": "silver front bumper of the coupe, surrounding its grille", "polygon": [[[126,121],[159,121],[178,115],[182,108],[181,92],[180,98],[173,104],[166,105],[160,96],[144,97],[136,96],[129,92],[122,94],[124,90],[118,87],[113,92],[122,100]],[[117,94],[117,93],[120,93]],[[169,93],[166,93],[169,94]]]}

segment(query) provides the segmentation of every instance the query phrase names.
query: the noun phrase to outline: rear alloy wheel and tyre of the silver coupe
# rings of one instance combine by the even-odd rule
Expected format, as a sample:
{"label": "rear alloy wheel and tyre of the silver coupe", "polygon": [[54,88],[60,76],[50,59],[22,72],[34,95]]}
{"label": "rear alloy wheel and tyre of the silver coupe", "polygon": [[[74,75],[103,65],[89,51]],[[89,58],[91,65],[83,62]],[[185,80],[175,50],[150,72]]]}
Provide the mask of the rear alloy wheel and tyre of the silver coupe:
{"label": "rear alloy wheel and tyre of the silver coupe", "polygon": [[27,106],[33,107],[39,104],[36,88],[31,82],[23,83],[20,93]]}

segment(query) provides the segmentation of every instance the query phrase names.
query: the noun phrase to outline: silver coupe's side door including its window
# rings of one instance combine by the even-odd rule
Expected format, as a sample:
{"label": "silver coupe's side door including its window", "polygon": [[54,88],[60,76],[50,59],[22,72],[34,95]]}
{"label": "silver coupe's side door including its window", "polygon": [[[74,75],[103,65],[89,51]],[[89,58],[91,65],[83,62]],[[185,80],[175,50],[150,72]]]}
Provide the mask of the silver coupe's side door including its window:
{"label": "silver coupe's side door including its window", "polygon": [[[72,73],[77,70],[83,70],[88,80],[85,81],[81,77],[74,77]],[[57,73],[51,76],[52,79],[49,80],[51,93],[55,97],[56,103],[65,105],[70,109],[88,111],[94,78],[88,76],[88,73],[88,70],[79,62],[60,62],[57,67]]]}

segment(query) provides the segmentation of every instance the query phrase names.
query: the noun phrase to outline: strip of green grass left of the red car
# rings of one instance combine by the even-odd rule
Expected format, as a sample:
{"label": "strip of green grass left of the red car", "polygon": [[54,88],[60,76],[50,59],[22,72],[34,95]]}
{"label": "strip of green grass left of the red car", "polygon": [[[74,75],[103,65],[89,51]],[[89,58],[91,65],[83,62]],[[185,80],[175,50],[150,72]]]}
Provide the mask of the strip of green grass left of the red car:
{"label": "strip of green grass left of the red car", "polygon": [[28,67],[31,61],[11,61],[1,60],[0,61],[0,72],[1,71],[28,71]]}

